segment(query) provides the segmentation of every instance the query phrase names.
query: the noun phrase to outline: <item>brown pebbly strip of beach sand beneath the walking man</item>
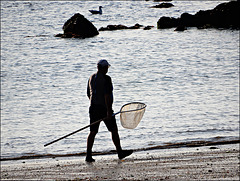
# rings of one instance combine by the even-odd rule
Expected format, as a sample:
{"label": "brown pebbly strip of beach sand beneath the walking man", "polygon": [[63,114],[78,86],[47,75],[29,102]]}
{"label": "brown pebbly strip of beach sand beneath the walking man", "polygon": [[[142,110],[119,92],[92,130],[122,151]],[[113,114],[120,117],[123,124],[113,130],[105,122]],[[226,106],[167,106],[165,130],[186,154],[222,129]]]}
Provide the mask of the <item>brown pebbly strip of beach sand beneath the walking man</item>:
{"label": "brown pebbly strip of beach sand beneath the walking man", "polygon": [[3,161],[1,180],[239,180],[239,144],[117,155]]}

